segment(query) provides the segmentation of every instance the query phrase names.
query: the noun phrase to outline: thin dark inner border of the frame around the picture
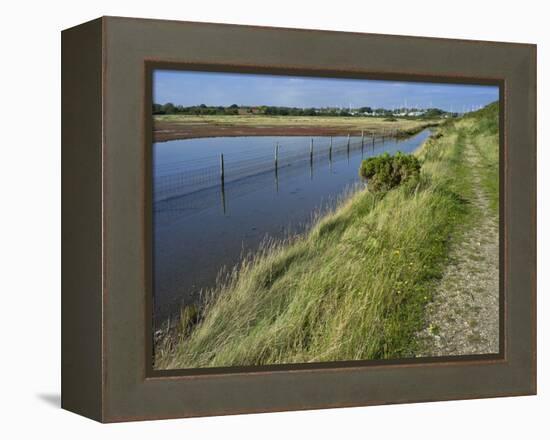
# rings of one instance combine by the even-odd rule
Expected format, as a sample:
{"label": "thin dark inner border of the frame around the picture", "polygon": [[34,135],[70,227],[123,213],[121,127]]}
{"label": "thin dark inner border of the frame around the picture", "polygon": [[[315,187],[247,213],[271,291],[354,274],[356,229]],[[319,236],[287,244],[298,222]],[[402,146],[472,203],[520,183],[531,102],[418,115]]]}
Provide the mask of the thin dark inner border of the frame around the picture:
{"label": "thin dark inner border of the frame around the picture", "polygon": [[[151,113],[153,104],[153,72],[155,70],[179,70],[212,73],[241,73],[276,76],[301,76],[312,78],[357,79],[378,81],[403,81],[412,83],[439,83],[457,85],[496,86],[499,89],[499,352],[488,354],[471,354],[457,356],[437,356],[422,358],[400,358],[380,360],[349,360],[331,362],[311,362],[294,364],[273,364],[262,366],[233,366],[233,367],[207,367],[156,370],[153,368],[153,117]],[[285,65],[261,65],[261,64],[228,64],[228,63],[195,63],[176,61],[169,59],[148,58],[144,60],[143,69],[143,139],[145,141],[145,243],[146,243],[146,298],[145,298],[145,377],[147,381],[157,379],[190,379],[196,376],[220,377],[240,374],[276,373],[293,371],[330,371],[330,370],[356,370],[370,368],[383,368],[384,366],[418,366],[428,365],[472,365],[506,363],[506,255],[508,245],[506,243],[506,194],[505,171],[508,160],[507,139],[505,133],[506,123],[506,81],[504,78],[475,77],[461,75],[430,75],[419,73],[395,73],[376,72],[364,69],[306,69]]]}

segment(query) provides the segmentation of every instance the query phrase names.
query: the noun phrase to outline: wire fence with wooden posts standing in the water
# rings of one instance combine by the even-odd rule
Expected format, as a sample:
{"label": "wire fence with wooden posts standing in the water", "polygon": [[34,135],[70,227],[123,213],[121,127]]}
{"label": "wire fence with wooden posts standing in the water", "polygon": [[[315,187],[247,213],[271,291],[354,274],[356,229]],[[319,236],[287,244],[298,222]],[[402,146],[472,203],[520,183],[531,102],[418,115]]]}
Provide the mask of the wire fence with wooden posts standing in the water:
{"label": "wire fence with wooden posts standing in the water", "polygon": [[385,139],[385,136],[361,135],[311,138],[304,142],[304,138],[298,138],[275,143],[271,153],[267,149],[240,151],[164,164],[155,168],[153,198],[155,203],[162,202],[256,175],[282,172],[307,162],[313,165],[332,161],[352,151],[374,149]]}

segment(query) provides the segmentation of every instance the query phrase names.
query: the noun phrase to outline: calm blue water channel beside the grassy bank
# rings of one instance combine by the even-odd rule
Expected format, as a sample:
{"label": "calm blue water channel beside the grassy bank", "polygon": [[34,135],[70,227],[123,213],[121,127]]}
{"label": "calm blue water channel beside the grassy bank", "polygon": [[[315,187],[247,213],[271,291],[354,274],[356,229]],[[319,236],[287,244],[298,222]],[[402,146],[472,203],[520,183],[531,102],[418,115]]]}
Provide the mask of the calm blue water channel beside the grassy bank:
{"label": "calm blue water channel beside the grassy bank", "polygon": [[[266,237],[303,232],[348,188],[362,185],[362,157],[410,153],[429,130],[374,146],[361,138],[228,137],[157,143],[154,154],[154,313],[160,325],[182,304],[215,285],[222,267],[238,264]],[[274,146],[279,143],[277,172]],[[219,154],[225,161],[221,185]],[[329,160],[329,159],[332,160]],[[195,176],[189,179],[189,176]],[[163,186],[164,185],[164,186]],[[162,191],[160,187],[162,186]],[[175,189],[174,189],[175,188]]]}

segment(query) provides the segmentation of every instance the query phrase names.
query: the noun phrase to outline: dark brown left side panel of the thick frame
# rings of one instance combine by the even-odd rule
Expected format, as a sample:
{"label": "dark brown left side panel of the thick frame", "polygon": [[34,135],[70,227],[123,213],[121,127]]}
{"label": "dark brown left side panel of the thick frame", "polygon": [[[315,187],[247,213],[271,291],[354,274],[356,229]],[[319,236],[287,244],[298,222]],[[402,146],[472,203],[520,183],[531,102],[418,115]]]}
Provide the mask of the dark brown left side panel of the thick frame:
{"label": "dark brown left side panel of the thick frame", "polygon": [[61,407],[101,420],[102,19],[61,51]]}

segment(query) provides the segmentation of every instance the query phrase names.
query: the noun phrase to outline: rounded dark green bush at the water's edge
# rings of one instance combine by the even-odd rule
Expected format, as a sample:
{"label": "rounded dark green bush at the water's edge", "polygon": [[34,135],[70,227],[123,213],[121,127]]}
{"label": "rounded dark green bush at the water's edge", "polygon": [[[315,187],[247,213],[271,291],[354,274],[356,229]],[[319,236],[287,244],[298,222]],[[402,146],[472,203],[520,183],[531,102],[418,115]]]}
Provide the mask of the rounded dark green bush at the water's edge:
{"label": "rounded dark green bush at the water's edge", "polygon": [[361,162],[359,175],[368,180],[369,191],[388,191],[420,175],[420,161],[412,154],[384,153]]}

